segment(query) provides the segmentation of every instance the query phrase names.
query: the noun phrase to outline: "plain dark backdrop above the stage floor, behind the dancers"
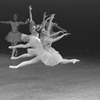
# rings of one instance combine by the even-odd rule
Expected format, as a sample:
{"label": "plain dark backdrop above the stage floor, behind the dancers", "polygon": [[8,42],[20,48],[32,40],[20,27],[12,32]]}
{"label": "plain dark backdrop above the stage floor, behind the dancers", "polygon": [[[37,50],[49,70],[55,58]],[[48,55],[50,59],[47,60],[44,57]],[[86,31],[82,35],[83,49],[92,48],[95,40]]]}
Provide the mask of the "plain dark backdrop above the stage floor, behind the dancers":
{"label": "plain dark backdrop above the stage floor, behind the dancers", "polygon": [[[99,0],[0,0],[0,20],[13,20],[18,14],[19,21],[29,18],[28,6],[32,6],[33,20],[42,22],[43,13],[55,13],[54,22],[71,33],[53,44],[61,54],[100,52],[100,1]],[[4,39],[10,25],[0,23],[0,51],[9,51]],[[19,27],[19,31],[29,33],[27,25]]]}

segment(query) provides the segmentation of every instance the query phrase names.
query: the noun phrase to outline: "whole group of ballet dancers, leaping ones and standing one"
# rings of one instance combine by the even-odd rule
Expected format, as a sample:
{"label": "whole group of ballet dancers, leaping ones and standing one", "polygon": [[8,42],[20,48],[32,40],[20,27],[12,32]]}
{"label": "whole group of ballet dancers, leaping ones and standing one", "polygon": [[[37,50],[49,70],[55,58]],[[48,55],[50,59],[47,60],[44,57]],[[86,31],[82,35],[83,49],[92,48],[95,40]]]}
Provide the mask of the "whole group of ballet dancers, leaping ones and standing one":
{"label": "whole group of ballet dancers, leaping ones and standing one", "polygon": [[[79,62],[78,59],[64,59],[58,51],[52,47],[52,43],[60,40],[64,36],[70,35],[65,29],[59,27],[57,23],[53,22],[55,14],[43,14],[43,21],[41,24],[35,24],[32,19],[32,7],[29,6],[29,19],[25,22],[17,21],[17,15],[14,15],[14,21],[0,21],[1,23],[11,24],[12,30],[6,36],[6,40],[11,43],[9,49],[12,49],[12,60],[17,60],[24,57],[33,57],[29,61],[23,61],[18,65],[11,65],[9,68],[19,68],[26,65],[34,64],[42,61],[46,66],[55,66],[59,63],[67,64]],[[18,26],[29,24],[30,35],[23,34],[18,31]],[[53,27],[59,29],[54,32]],[[18,42],[25,42],[26,44],[17,44]],[[20,56],[17,55],[17,48],[27,48],[27,53]]]}

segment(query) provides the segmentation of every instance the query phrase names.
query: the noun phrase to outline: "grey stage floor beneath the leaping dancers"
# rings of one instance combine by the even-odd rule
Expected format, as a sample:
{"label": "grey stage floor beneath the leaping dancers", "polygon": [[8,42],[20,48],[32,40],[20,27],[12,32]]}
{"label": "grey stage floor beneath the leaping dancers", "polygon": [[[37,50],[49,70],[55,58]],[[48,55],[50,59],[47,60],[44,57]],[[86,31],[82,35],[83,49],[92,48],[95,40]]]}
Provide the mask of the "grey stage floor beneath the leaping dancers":
{"label": "grey stage floor beneath the leaping dancers", "polygon": [[0,56],[0,100],[100,100],[100,59],[97,56],[74,56],[76,64],[47,67],[39,62],[18,69]]}

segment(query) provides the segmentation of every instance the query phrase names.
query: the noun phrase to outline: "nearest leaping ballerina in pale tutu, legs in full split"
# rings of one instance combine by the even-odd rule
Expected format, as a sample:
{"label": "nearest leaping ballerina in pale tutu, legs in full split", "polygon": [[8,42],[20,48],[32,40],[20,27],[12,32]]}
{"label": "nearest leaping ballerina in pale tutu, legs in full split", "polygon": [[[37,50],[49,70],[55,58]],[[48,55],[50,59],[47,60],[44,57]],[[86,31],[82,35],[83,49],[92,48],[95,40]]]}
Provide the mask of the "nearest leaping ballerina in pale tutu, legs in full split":
{"label": "nearest leaping ballerina in pale tutu, legs in full split", "polygon": [[[63,64],[73,63],[74,64],[77,61],[79,61],[77,59],[71,59],[71,60],[63,59],[61,57],[61,55],[59,54],[59,52],[51,47],[52,42],[55,42],[55,41],[61,39],[62,37],[66,36],[67,34],[63,34],[55,39],[52,39],[52,38],[48,38],[48,34],[47,34],[47,32],[44,32],[44,29],[42,31],[43,31],[43,33],[41,33],[42,34],[41,35],[41,42],[38,42],[40,45],[41,44],[42,45],[41,46],[39,45],[38,48],[34,48],[35,54],[37,53],[36,57],[33,58],[32,60],[24,61],[16,66],[9,66],[9,68],[23,67],[25,65],[34,64],[39,60],[41,60],[45,65],[48,65],[48,66],[55,66],[59,63],[63,63]],[[30,43],[29,43],[29,45],[30,45]],[[9,48],[18,48],[18,47],[19,46],[12,46]],[[20,47],[22,47],[22,46],[20,46]],[[18,57],[18,58],[20,58],[20,57]]]}

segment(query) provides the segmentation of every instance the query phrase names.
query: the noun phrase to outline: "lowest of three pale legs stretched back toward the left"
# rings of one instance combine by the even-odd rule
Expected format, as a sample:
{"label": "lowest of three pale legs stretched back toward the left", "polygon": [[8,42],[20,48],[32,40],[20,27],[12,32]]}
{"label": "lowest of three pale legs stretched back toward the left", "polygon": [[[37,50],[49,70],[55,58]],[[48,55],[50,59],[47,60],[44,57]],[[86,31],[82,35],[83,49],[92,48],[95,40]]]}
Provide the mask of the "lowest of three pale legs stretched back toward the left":
{"label": "lowest of three pale legs stretched back toward the left", "polygon": [[9,66],[9,68],[19,68],[19,67],[23,67],[23,66],[27,66],[27,65],[30,65],[30,64],[34,64],[38,61],[39,59],[37,59],[37,57],[33,58],[32,60],[29,60],[29,61],[24,61],[16,66]]}

